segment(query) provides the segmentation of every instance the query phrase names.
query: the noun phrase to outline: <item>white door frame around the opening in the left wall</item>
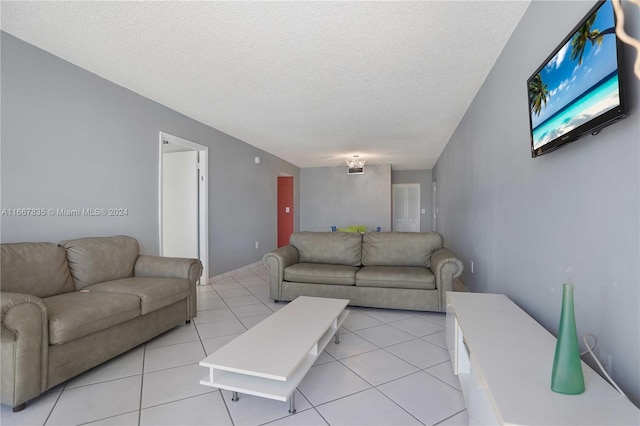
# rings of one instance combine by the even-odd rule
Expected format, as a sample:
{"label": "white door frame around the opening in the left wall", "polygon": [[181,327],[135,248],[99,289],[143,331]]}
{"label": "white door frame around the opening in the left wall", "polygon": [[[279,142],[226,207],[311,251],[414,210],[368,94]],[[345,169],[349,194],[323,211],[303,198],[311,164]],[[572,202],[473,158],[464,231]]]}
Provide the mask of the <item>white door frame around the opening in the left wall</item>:
{"label": "white door frame around the opening in the left wall", "polygon": [[159,167],[158,167],[158,229],[159,229],[159,248],[160,256],[162,256],[162,146],[164,141],[168,141],[171,144],[181,145],[190,148],[194,151],[198,151],[198,169],[199,174],[199,191],[198,191],[198,251],[200,253],[200,262],[202,262],[202,277],[200,278],[200,285],[206,285],[209,283],[209,148],[197,144],[195,142],[188,141],[186,139],[179,138],[177,136],[170,135],[165,132],[160,132],[159,135]]}

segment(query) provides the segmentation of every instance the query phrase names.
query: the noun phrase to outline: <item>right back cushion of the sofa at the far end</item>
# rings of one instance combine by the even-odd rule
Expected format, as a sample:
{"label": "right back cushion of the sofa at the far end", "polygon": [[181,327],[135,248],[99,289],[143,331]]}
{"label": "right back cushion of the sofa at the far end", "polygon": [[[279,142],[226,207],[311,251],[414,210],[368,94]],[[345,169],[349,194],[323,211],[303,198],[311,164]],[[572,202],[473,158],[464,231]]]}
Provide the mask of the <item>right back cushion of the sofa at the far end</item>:
{"label": "right back cushion of the sofa at the far end", "polygon": [[431,266],[431,253],[442,248],[437,232],[368,232],[362,238],[365,266]]}

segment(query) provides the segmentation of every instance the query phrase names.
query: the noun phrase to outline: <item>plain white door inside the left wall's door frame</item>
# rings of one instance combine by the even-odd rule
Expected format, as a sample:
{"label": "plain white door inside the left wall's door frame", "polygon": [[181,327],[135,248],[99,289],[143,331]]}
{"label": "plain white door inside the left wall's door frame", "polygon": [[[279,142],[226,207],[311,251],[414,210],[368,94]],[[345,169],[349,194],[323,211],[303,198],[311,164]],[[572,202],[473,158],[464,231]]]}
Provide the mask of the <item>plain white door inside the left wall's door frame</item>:
{"label": "plain white door inside the left wall's door frame", "polygon": [[162,155],[162,254],[197,259],[198,152]]}

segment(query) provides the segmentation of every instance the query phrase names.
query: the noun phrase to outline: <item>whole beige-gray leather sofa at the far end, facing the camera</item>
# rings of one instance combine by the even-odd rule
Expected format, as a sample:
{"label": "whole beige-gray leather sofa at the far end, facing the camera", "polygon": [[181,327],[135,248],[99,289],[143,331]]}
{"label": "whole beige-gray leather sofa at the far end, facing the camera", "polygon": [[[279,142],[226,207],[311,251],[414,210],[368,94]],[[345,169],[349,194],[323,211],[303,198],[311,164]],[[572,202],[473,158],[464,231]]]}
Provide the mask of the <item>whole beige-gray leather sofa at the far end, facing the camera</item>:
{"label": "whole beige-gray leather sofa at the far end, facing the camera", "polygon": [[267,253],[270,295],[349,299],[354,306],[445,312],[462,262],[437,232],[297,232]]}

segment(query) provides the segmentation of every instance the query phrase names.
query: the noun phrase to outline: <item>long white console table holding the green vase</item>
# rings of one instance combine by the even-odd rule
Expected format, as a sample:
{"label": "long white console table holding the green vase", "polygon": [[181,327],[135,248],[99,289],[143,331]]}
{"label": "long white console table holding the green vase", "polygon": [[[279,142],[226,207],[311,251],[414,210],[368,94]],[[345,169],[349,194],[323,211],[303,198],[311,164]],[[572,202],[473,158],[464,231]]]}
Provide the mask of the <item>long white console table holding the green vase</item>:
{"label": "long white console table holding the green vase", "polygon": [[556,338],[504,295],[448,292],[446,336],[469,424],[640,424],[640,410],[584,362],[583,394],[551,391]]}

